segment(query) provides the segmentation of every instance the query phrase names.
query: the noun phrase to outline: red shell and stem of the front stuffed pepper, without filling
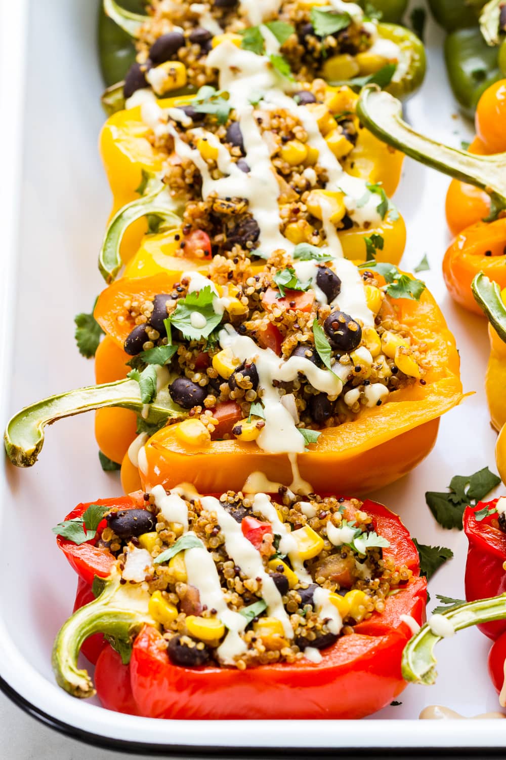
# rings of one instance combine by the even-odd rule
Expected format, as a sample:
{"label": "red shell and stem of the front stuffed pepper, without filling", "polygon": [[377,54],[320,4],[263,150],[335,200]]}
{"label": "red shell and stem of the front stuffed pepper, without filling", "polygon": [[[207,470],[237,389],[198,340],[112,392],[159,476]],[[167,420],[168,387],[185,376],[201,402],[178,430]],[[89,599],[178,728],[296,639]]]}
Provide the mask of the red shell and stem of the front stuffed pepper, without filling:
{"label": "red shell and stem of the front stuffed pepper, without filling", "polygon": [[411,630],[401,616],[422,622],[426,579],[419,576],[416,548],[399,518],[375,502],[364,502],[363,510],[390,543],[385,556],[395,565],[407,565],[413,576],[386,598],[383,613],[373,613],[322,650],[321,662],[262,665],[247,673],[176,666],[146,613],[129,609],[127,593],[116,596],[124,587],[113,571],[102,594],[77,610],[58,633],[53,650],[58,683],[74,696],[93,694],[86,671],[77,670],[77,655],[84,635],[105,632],[132,642],[129,664],[112,654],[108,644],[97,662],[96,690],[112,710],[193,720],[357,718],[379,710],[404,689],[400,660]]}

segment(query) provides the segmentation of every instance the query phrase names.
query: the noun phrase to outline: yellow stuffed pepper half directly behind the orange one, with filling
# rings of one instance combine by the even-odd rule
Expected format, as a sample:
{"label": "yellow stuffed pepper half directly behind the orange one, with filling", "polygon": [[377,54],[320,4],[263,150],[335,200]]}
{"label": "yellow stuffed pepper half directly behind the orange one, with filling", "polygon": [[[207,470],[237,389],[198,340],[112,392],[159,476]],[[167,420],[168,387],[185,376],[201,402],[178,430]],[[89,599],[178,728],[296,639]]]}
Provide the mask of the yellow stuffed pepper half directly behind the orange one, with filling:
{"label": "yellow stuffed pepper half directly behind the orange one, with filling", "polygon": [[[239,51],[230,48],[233,59]],[[261,65],[260,56],[240,53]],[[278,87],[265,60],[266,76],[272,78],[272,87]],[[238,61],[243,65],[242,58]],[[240,85],[240,73],[237,69],[237,81],[229,89]],[[328,237],[324,229],[328,213],[328,220],[342,235],[345,255],[365,259],[364,238],[382,236],[379,260],[398,263],[406,231],[388,195],[398,184],[402,154],[361,127],[354,116],[357,96],[348,87],[322,87],[320,81],[313,85],[314,94],[303,90],[312,99],[303,105],[297,93],[281,95],[277,109],[281,128],[266,119],[264,106],[269,110],[269,104],[260,99],[256,104],[259,142],[255,147],[250,144],[253,168],[248,164],[240,119],[232,116],[236,96],[227,100],[205,89],[191,103],[186,100],[189,105],[177,107],[181,99],[148,101],[116,113],[106,123],[102,158],[113,192],[115,182],[121,187],[121,198],[115,201],[99,256],[105,280],[112,281],[121,261],[134,255],[140,242],[139,220],[146,216],[157,217],[165,228],[175,229],[182,223],[185,236],[196,230],[206,233],[215,254],[230,252],[237,245],[251,251],[256,245],[262,249],[266,222],[260,230],[256,216],[262,218],[266,212],[272,217],[276,206],[280,232],[288,245],[321,245]],[[288,128],[292,122],[295,132]],[[296,133],[301,140],[294,138]],[[269,176],[271,182],[266,182]],[[262,187],[257,188],[260,180]],[[135,198],[135,188],[140,198]],[[375,206],[367,202],[371,193],[377,197]],[[186,239],[181,242],[187,245]],[[282,239],[278,247],[281,243]]]}

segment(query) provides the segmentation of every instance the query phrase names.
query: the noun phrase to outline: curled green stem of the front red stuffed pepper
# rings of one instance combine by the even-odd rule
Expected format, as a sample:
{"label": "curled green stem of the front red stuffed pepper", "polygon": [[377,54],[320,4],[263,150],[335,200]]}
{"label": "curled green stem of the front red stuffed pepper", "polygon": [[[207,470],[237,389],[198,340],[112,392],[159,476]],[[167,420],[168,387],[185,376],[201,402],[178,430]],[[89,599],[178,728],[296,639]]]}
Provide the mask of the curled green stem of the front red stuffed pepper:
{"label": "curled green stem of the front red stuffed pepper", "polygon": [[116,641],[131,641],[144,622],[152,619],[146,612],[129,609],[127,598],[122,599],[120,575],[112,572],[103,591],[93,602],[80,607],[61,629],[52,650],[52,667],[58,686],[73,697],[93,697],[95,689],[86,670],[77,667],[80,648],[88,636],[103,633]]}

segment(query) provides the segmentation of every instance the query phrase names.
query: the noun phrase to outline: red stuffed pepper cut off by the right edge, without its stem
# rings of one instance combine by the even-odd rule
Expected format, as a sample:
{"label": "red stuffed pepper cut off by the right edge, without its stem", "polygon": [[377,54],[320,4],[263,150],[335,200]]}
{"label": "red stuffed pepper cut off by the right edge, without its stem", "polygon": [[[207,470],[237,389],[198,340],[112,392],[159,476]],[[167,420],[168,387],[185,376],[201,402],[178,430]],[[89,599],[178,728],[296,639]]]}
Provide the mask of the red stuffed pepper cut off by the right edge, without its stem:
{"label": "red stuffed pepper cut off by the right edge, without its stem", "polygon": [[[504,512],[498,512],[499,501],[479,502],[464,511],[464,531],[469,540],[465,578],[469,602],[506,591],[506,521]],[[506,619],[484,623],[479,629],[489,638],[498,638],[506,632]]]}

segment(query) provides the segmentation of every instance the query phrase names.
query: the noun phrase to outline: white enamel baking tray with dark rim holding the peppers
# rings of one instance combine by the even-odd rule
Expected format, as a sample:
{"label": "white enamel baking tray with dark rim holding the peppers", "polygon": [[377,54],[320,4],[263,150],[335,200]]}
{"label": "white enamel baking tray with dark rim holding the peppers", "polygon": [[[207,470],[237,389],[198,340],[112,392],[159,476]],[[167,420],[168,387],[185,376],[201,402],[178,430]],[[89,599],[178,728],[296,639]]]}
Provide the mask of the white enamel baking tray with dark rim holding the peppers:
{"label": "white enamel baking tray with dark rim holding the peppers", "polygon": [[[96,5],[90,0],[0,0],[2,425],[30,401],[93,381],[92,364],[74,347],[73,317],[91,308],[103,286],[96,254],[110,202],[96,150],[103,120]],[[421,130],[458,145],[470,131],[453,117],[442,34],[433,25],[427,41],[429,71],[408,114]],[[406,161],[396,197],[408,227],[403,264],[413,268],[428,254],[432,268],[423,277],[457,337],[465,389],[476,394],[445,416],[434,451],[415,472],[373,495],[397,511],[420,541],[454,549],[453,561],[430,584],[430,606],[437,593],[462,597],[467,540],[435,524],[424,492],[444,489],[454,474],[494,467],[495,444],[482,389],[489,351],[486,324],[454,306],[442,281],[447,185],[445,177]],[[486,673],[489,641],[475,629],[439,646],[436,686],[410,686],[401,695],[402,705],[362,720],[360,728],[351,721],[318,721],[301,735],[288,721],[188,724],[116,714],[71,698],[55,686],[50,655],[55,633],[71,610],[75,576],[50,528],[77,502],[113,496],[121,487],[114,474],[99,467],[90,415],[49,429],[39,464],[31,470],[6,465],[0,478],[0,685],[20,707],[58,730],[130,751],[222,755],[247,747],[253,753],[269,748],[290,754],[340,748],[359,756],[378,748],[390,748],[390,754],[430,748],[434,756],[445,748],[476,747],[483,756],[482,748],[504,745],[501,721],[417,720],[430,704],[467,716],[498,709]]]}

